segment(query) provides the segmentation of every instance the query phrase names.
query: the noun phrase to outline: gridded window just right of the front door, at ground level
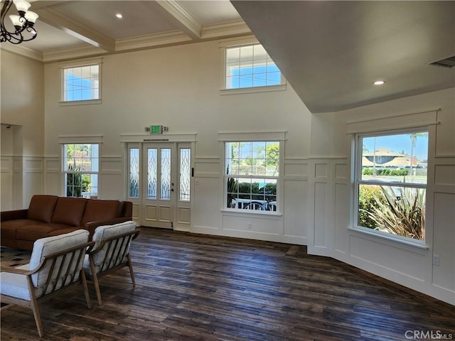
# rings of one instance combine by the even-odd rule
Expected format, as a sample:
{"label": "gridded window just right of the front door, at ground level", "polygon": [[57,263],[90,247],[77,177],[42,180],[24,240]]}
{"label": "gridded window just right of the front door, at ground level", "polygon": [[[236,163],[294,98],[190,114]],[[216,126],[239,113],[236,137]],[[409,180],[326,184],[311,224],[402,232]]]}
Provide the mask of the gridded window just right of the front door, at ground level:
{"label": "gridded window just right of the front door, at ground level", "polygon": [[279,150],[279,141],[225,141],[228,208],[245,212],[277,211]]}

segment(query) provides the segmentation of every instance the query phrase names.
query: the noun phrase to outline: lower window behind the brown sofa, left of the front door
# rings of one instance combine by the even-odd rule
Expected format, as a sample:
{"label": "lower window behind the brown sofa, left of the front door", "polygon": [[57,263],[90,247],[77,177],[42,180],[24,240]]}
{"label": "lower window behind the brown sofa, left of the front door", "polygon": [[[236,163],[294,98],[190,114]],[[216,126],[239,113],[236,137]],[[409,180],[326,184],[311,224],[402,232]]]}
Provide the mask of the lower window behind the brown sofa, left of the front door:
{"label": "lower window behind the brown sofa, left of the front door", "polygon": [[63,144],[63,173],[67,197],[98,197],[99,144]]}

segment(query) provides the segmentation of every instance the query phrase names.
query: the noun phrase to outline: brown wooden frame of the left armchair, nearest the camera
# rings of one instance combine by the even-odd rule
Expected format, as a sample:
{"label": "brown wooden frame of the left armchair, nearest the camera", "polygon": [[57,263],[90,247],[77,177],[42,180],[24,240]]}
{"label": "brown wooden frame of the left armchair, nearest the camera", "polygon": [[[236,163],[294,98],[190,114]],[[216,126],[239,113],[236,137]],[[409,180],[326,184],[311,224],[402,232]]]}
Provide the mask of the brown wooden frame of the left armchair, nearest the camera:
{"label": "brown wooden frame of the left armchair, nearest the camera", "polygon": [[[17,269],[12,266],[1,266],[1,271],[9,272],[12,274],[23,274],[24,276],[27,277],[28,291],[30,293],[31,298],[30,301],[27,301],[21,298],[1,295],[0,296],[1,303],[7,303],[7,305],[1,308],[1,311],[12,308],[14,305],[21,305],[27,308],[31,308],[31,310],[33,310],[33,316],[35,318],[38,334],[40,335],[40,337],[42,337],[43,325],[41,324],[41,315],[38,309],[38,301],[41,302],[48,298],[52,298],[56,294],[60,293],[62,289],[69,288],[70,286],[74,286],[75,284],[82,283],[85,293],[85,301],[87,301],[87,308],[91,308],[92,305],[90,303],[90,296],[88,293],[88,286],[87,280],[85,278],[84,269],[82,269],[82,261],[87,251],[87,248],[92,247],[94,244],[95,242],[87,242],[85,244],[80,244],[77,247],[72,247],[70,249],[65,249],[63,251],[55,252],[54,254],[49,254],[48,256],[44,256],[43,259],[41,260],[41,263],[36,267],[36,269],[33,270]],[[61,257],[60,266],[55,266],[60,257]],[[63,265],[65,264],[65,261],[68,259],[68,257],[70,257],[70,263],[68,264],[68,267],[64,269]],[[36,287],[33,286],[32,275],[36,274],[38,271],[41,271],[41,269],[43,269],[43,267],[46,266],[48,262],[51,262],[50,271],[45,281],[43,294],[40,297],[36,297],[35,294]],[[78,271],[70,273],[70,269],[72,269],[77,264],[80,264],[79,266],[80,269]],[[75,281],[75,276],[77,272],[79,272],[80,276],[78,280]],[[58,280],[54,281],[54,283],[51,283],[51,279],[55,278],[54,276],[55,274],[57,274],[56,278],[60,278],[60,276],[64,278],[63,286],[60,286],[60,288],[57,288]],[[70,278],[70,282],[65,285],[64,283],[68,281],[68,278]]]}

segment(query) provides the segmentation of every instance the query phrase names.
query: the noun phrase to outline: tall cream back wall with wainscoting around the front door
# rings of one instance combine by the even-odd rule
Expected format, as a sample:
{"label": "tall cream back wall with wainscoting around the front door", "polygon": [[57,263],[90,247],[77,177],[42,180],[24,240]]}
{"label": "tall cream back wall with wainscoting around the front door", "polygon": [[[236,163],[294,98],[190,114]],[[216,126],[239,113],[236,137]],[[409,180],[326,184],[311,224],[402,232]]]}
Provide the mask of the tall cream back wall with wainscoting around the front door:
{"label": "tall cream back wall with wainscoting around the front door", "polygon": [[[102,136],[100,197],[124,197],[125,134],[162,124],[171,134],[196,134],[191,231],[306,244],[306,158],[311,114],[294,90],[220,94],[223,65],[217,41],[105,56],[102,104],[63,106],[60,67],[45,65],[45,185],[62,193],[59,136]],[[284,215],[222,212],[223,155],[218,133],[287,131]],[[166,136],[163,136],[166,137]],[[87,137],[90,139],[90,137]],[[252,229],[247,229],[247,222]]]}

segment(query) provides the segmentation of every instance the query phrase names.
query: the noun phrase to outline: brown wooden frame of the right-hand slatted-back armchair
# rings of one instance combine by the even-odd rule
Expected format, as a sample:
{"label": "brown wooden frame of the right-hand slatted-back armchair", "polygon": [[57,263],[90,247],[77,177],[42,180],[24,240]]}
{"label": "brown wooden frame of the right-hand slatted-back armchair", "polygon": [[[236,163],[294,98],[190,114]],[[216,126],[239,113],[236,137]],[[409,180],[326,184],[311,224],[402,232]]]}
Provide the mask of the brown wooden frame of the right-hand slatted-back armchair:
{"label": "brown wooden frame of the right-hand slatted-back armchair", "polygon": [[[97,300],[98,304],[102,305],[101,299],[101,291],[100,291],[100,283],[98,282],[98,276],[109,274],[112,271],[116,271],[118,269],[123,268],[124,266],[129,267],[129,274],[131,276],[131,281],[133,283],[133,287],[136,286],[136,281],[134,280],[134,270],[133,264],[131,261],[131,256],[129,255],[129,248],[123,246],[127,246],[132,242],[133,239],[136,239],[139,235],[140,229],[134,229],[131,232],[126,232],[123,234],[118,234],[117,236],[109,237],[106,239],[102,239],[102,242],[99,247],[96,249],[90,248],[87,250],[87,254],[90,259],[90,270],[92,274],[87,274],[87,276],[92,277],[93,284],[95,286],[95,291],[97,293]],[[105,254],[105,258],[102,261],[101,268],[97,272],[95,269],[95,261],[93,257],[97,252],[101,251],[103,247],[107,247],[107,251]],[[109,255],[109,251],[113,249],[112,255]],[[123,249],[123,250],[122,250]],[[127,259],[123,261],[123,259]],[[114,265],[117,264],[117,265]]]}

